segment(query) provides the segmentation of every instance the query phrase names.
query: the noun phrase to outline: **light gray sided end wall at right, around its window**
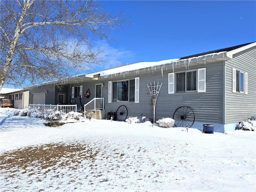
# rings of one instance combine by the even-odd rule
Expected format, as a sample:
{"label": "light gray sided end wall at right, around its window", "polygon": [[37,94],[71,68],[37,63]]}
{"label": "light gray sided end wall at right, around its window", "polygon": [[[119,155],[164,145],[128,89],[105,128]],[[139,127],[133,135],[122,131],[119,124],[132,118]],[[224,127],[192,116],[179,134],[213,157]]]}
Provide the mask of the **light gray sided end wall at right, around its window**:
{"label": "light gray sided end wall at right, around its window", "polygon": [[[248,94],[232,92],[232,68],[248,73]],[[232,124],[256,114],[255,46],[234,54],[231,60],[226,61],[225,71],[224,111],[226,118],[223,123]]]}

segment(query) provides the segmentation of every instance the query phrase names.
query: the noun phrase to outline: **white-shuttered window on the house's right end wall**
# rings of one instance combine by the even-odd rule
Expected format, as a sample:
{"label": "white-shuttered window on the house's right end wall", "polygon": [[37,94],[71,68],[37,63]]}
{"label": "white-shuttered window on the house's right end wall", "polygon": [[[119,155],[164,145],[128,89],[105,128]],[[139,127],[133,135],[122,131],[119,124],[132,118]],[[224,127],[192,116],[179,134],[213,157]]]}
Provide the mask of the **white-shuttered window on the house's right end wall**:
{"label": "white-shuttered window on the house's right end wall", "polygon": [[232,92],[248,94],[248,73],[232,68]]}

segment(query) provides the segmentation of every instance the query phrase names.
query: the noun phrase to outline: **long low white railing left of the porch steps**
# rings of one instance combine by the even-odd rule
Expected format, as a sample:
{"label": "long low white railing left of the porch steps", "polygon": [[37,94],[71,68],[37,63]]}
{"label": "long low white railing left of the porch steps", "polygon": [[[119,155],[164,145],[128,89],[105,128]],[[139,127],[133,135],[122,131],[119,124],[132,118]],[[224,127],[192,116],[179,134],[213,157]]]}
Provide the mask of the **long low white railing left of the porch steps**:
{"label": "long low white railing left of the porch steps", "polygon": [[58,111],[62,111],[64,113],[68,113],[71,111],[76,112],[77,105],[46,105],[46,104],[29,104],[32,108],[39,108],[41,111],[53,109],[56,107]]}

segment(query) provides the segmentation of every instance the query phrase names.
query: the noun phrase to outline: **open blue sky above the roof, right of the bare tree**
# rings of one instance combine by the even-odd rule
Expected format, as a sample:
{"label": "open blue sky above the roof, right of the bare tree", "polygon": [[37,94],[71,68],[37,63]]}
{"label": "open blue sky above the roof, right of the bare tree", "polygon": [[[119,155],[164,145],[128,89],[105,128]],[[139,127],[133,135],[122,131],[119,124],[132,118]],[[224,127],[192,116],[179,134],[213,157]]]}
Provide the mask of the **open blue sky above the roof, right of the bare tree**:
{"label": "open blue sky above the roof, right of the bare tree", "polygon": [[[112,31],[105,68],[160,61],[256,41],[256,1],[99,1],[127,20]],[[92,69],[101,70],[102,68]],[[4,86],[7,87],[7,86]]]}

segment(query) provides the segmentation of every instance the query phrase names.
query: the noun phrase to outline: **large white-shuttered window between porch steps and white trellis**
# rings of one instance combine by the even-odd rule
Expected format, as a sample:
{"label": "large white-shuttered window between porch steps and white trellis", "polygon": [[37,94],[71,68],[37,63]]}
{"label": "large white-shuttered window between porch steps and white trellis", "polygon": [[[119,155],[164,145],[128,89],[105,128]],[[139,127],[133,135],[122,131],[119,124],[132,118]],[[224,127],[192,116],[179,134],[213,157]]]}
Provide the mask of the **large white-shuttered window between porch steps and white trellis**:
{"label": "large white-shuttered window between porch steps and white trellis", "polygon": [[108,102],[139,102],[139,78],[108,82]]}

